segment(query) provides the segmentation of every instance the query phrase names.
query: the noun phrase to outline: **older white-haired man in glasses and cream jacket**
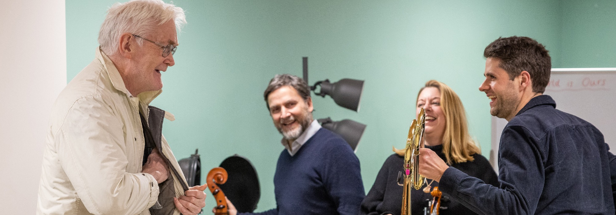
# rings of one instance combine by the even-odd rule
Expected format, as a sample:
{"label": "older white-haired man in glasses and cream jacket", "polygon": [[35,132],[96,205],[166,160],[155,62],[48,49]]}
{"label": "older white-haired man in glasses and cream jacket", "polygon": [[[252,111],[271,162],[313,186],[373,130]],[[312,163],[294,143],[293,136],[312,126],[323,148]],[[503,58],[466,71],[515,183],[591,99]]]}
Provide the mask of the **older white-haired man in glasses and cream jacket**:
{"label": "older white-haired man in glasses and cream jacket", "polygon": [[203,188],[187,186],[161,134],[174,117],[148,105],[185,23],[184,10],[160,0],[108,10],[96,58],[52,108],[37,214],[200,213]]}

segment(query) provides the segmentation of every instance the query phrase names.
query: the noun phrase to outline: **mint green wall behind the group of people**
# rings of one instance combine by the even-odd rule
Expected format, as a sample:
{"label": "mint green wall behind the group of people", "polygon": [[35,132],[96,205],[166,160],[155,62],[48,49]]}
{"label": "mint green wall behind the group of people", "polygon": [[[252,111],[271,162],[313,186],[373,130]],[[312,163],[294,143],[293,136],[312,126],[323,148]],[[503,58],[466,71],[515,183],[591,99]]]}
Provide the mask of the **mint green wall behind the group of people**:
{"label": "mint green wall behind the group of people", "polygon": [[[94,58],[100,23],[113,2],[67,0],[68,80]],[[230,155],[251,160],[261,180],[257,211],[275,207],[272,181],[283,149],[262,92],[275,74],[301,76],[301,57],[309,57],[311,84],[366,80],[359,113],[331,98],[313,99],[317,119],[368,125],[357,150],[368,192],[391,147],[404,146],[424,82],[440,80],[460,95],[471,135],[488,157],[488,100],[477,90],[485,46],[499,36],[533,37],[551,51],[554,67],[562,67],[577,57],[564,50],[578,49],[563,41],[592,36],[578,33],[591,28],[580,19],[601,10],[578,11],[576,1],[556,0],[174,2],[187,11],[188,25],[179,34],[176,66],[163,73],[164,93],[153,102],[176,115],[165,122],[164,135],[177,158],[200,149],[202,178]],[[588,52],[599,47],[588,44],[595,44]],[[586,62],[604,67],[598,65],[603,61]],[[208,209],[214,205],[211,195],[206,202]]]}

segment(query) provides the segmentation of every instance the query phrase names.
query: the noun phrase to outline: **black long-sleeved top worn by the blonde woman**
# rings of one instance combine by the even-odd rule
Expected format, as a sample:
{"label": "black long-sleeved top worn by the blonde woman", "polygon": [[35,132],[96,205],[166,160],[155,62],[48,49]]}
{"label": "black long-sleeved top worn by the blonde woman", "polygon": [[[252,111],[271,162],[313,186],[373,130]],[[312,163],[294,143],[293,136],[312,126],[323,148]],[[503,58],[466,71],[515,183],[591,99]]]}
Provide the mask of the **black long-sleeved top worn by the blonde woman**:
{"label": "black long-sleeved top worn by the blonde woman", "polygon": [[[443,154],[443,146],[426,146],[436,152],[437,155],[443,160],[445,154]],[[453,163],[453,167],[463,171],[469,176],[479,178],[486,184],[492,184],[498,187],[499,182],[496,177],[496,173],[490,166],[488,160],[482,155],[474,154],[475,158],[472,162]],[[366,198],[362,201],[362,208],[360,214],[368,215],[380,215],[380,214],[394,214],[399,215],[402,209],[402,186],[397,183],[398,172],[404,171],[402,163],[404,157],[392,154],[385,160],[383,167],[376,176],[375,184],[373,184],[370,192],[366,195]],[[428,183],[432,182],[428,179]],[[439,182],[433,181],[432,187],[439,186]],[[424,185],[423,187],[426,187]],[[422,187],[422,188],[423,188]],[[432,200],[430,193],[424,193],[423,189],[415,190],[411,189],[411,209],[413,214],[424,214],[424,208],[428,207],[428,201]],[[452,200],[446,193],[443,193],[443,197],[440,201],[440,214],[476,214],[470,209],[461,205],[458,201]],[[428,207],[429,210],[429,207]]]}

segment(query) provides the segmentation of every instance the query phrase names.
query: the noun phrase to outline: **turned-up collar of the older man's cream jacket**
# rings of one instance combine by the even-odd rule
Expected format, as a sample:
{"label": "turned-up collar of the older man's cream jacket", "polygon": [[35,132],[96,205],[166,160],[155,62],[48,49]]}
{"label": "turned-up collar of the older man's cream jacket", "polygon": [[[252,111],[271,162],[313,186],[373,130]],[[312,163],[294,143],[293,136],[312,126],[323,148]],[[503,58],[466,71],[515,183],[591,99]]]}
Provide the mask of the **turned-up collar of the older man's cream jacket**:
{"label": "turned-up collar of the older man's cream jacket", "polygon": [[[116,68],[111,59],[109,59],[109,57],[107,57],[107,55],[100,50],[100,46],[96,48],[96,58],[100,60],[100,63],[102,63],[105,67],[105,71],[107,71],[109,79],[111,80],[111,85],[113,85],[116,90],[120,90],[120,92],[123,92],[126,96],[128,96],[130,93],[128,92],[128,89],[126,89],[126,85],[124,85],[124,80],[122,80],[122,76],[120,76],[118,68]],[[139,98],[139,101],[142,103],[150,104],[150,102],[152,102],[152,100],[154,100],[154,98],[162,92],[163,90],[147,91],[139,93],[139,95],[132,96]]]}

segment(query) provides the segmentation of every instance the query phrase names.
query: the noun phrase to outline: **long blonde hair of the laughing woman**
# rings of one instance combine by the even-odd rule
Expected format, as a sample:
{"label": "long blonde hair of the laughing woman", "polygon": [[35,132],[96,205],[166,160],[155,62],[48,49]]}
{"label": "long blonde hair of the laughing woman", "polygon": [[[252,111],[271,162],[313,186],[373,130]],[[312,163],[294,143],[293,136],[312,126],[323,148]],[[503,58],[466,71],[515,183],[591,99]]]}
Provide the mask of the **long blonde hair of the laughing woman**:
{"label": "long blonde hair of the laughing woman", "polygon": [[[426,87],[435,87],[440,92],[440,108],[445,114],[445,132],[443,134],[443,154],[447,158],[447,164],[452,162],[463,163],[473,161],[473,154],[481,154],[479,147],[468,133],[466,112],[460,97],[453,92],[452,88],[437,80],[429,80],[419,90],[417,97]],[[416,101],[415,101],[416,102]],[[404,149],[395,149],[394,152],[404,156]]]}

